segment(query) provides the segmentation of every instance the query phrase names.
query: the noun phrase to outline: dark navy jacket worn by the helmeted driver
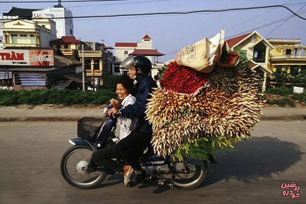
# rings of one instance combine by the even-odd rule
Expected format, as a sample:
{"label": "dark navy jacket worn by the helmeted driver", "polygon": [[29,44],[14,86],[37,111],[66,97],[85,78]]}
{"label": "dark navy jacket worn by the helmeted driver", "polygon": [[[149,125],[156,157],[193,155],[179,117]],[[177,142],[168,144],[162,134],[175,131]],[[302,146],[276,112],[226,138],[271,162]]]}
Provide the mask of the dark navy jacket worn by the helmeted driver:
{"label": "dark navy jacket worn by the helmeted driver", "polygon": [[149,124],[145,117],[146,104],[150,98],[149,93],[152,93],[152,88],[156,88],[156,82],[152,79],[151,76],[144,77],[137,83],[136,90],[136,102],[133,105],[128,105],[124,109],[121,109],[120,112],[123,116],[128,118],[139,117],[139,127],[137,131],[142,133],[151,133],[152,126]]}

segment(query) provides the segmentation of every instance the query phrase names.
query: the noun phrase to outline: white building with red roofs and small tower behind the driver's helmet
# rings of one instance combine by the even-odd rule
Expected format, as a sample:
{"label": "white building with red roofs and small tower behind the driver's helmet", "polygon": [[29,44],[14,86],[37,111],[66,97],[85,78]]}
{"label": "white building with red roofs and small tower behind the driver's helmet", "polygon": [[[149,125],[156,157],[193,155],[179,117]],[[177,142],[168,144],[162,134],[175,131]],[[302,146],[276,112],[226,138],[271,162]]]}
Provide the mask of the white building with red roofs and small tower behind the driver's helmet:
{"label": "white building with red roofs and small tower behind the driver's helmet", "polygon": [[[160,63],[156,64],[158,61],[158,56],[163,56],[164,54],[159,53],[157,49],[152,49],[152,38],[145,34],[140,42],[116,42],[115,43],[115,56],[116,61],[114,64],[115,74],[126,74],[129,70],[120,69],[120,63],[129,55],[144,55],[155,67],[155,72],[157,72],[157,67],[161,67]],[[157,58],[156,58],[157,57]]]}

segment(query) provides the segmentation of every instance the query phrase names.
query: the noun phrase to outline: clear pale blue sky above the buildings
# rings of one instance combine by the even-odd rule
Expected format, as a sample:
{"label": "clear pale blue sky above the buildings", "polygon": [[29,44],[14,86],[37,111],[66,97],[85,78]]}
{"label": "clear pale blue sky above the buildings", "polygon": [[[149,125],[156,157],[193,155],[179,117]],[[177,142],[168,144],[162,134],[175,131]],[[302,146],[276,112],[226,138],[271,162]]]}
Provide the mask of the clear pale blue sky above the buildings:
{"label": "clear pale blue sky above the buildings", "polygon": [[[65,8],[72,11],[73,16],[192,11],[281,4],[294,4],[288,7],[302,17],[306,17],[306,1],[301,0],[130,0],[62,3]],[[8,12],[12,6],[35,9],[53,5],[56,3],[0,3],[0,12]],[[284,8],[268,8],[188,15],[73,19],[73,23],[74,35],[78,39],[98,42],[104,40],[108,46],[114,46],[115,42],[137,42],[147,33],[152,38],[153,48],[166,54],[160,57],[159,61],[166,62],[175,56],[177,50],[202,38],[211,38],[222,28],[225,29],[225,38],[248,33],[257,28],[256,31],[266,38],[299,38],[302,41],[301,44],[306,45],[306,20],[298,17],[289,18],[291,15],[292,13]],[[286,21],[263,27],[279,19]]]}

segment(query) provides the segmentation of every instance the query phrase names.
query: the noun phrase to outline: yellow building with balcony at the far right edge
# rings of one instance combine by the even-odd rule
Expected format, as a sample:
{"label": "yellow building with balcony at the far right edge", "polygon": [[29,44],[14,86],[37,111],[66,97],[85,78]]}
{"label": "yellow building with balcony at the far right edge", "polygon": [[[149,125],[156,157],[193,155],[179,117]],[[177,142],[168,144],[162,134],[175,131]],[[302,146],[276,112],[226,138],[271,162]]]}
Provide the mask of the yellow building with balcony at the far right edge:
{"label": "yellow building with balcony at the far right edge", "polygon": [[[300,39],[268,38],[274,49],[269,55],[269,69],[286,70],[289,74],[306,73],[306,45],[300,45]],[[271,86],[275,87],[276,81],[270,76]],[[293,85],[289,82],[287,85]]]}

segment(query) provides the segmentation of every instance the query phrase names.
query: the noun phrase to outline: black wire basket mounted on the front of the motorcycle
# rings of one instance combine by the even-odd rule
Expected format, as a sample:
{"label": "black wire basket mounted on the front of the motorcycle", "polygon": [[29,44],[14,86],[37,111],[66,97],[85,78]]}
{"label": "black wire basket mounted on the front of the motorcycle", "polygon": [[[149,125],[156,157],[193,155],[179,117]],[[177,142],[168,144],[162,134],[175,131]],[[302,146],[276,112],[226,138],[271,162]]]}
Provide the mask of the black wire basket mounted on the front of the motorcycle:
{"label": "black wire basket mounted on the front of the motorcycle", "polygon": [[95,141],[106,120],[84,117],[78,121],[78,137]]}

